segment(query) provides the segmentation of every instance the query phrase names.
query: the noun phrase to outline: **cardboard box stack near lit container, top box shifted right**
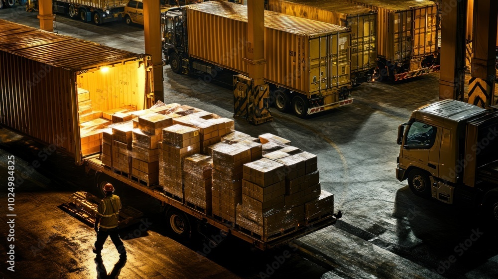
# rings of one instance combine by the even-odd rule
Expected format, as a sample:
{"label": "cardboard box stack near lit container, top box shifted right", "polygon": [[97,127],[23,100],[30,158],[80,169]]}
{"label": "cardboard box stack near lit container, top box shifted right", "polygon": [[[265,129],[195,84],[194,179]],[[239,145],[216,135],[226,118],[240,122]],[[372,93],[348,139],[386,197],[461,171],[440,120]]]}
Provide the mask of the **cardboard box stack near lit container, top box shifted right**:
{"label": "cardboard box stack near lit container, top box shifted right", "polygon": [[158,142],[162,140],[162,129],[172,124],[172,118],[162,114],[138,117],[138,129],[132,131],[132,177],[149,186],[159,182]]}

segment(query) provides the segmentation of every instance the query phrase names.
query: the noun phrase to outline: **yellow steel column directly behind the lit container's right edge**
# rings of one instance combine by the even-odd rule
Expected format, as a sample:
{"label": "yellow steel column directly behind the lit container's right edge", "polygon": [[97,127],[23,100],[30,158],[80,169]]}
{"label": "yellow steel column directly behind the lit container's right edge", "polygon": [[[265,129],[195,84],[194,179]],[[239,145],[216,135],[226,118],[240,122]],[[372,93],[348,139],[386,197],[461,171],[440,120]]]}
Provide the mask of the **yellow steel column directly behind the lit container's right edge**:
{"label": "yellow steel column directly behind the lit container's right edge", "polygon": [[159,1],[143,0],[145,52],[152,57],[154,103],[158,100],[164,101],[160,10]]}

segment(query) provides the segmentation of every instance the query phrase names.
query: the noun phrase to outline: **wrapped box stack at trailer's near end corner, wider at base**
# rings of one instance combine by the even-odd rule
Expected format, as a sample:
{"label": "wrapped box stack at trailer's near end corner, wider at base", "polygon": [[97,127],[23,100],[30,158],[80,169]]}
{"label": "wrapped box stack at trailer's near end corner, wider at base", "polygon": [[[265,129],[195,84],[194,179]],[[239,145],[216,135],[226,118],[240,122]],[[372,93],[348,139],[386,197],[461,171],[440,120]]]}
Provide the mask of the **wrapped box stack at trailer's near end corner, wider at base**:
{"label": "wrapped box stack at trailer's near end corner, wider at base", "polygon": [[262,158],[244,165],[242,204],[237,206],[237,225],[263,240],[296,228],[304,217],[303,206],[285,210],[284,165]]}

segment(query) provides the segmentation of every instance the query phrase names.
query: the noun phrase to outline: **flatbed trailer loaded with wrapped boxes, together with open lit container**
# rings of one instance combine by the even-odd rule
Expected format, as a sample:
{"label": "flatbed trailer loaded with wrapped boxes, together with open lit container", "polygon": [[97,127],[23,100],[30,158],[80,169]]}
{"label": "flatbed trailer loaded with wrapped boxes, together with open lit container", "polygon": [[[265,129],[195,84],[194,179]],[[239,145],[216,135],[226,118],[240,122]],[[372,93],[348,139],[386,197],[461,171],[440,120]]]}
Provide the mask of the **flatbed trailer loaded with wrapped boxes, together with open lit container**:
{"label": "flatbed trailer loaded with wrapped boxes, together with open lit container", "polygon": [[[214,235],[223,235],[223,239],[232,235],[248,242],[251,247],[264,250],[330,226],[341,217],[340,212],[337,215],[333,212],[333,195],[322,195],[323,191],[320,191],[316,155],[284,145],[288,147],[287,152],[296,155],[292,157],[294,160],[282,160],[288,162],[287,169],[285,164],[265,158],[261,159],[264,164],[258,165],[263,154],[262,143],[253,141],[257,139],[249,135],[236,134],[233,120],[218,118],[208,121],[213,114],[179,104],[152,106],[155,100],[148,55],[3,19],[0,19],[0,30],[0,127],[74,158],[77,165],[84,165],[88,173],[95,174],[95,184],[100,189],[108,182],[120,183],[118,185],[124,190],[127,185],[159,201],[169,231],[174,236],[188,237],[196,230],[206,236],[206,232],[211,231]],[[16,39],[12,40],[14,37]],[[21,79],[18,73],[26,75]],[[159,111],[164,114],[158,114]],[[197,112],[199,116],[193,115]],[[134,116],[135,119],[129,120]],[[172,125],[173,119],[185,125]],[[188,126],[187,122],[188,125],[197,123],[202,128]],[[167,132],[162,130],[165,126],[169,128]],[[235,135],[231,141],[250,140],[238,147],[222,143],[218,135],[225,136],[226,132]],[[168,135],[167,142],[162,140],[164,134]],[[211,162],[208,160],[211,156],[198,154],[200,146],[209,150],[202,145],[208,145],[208,142],[218,142],[226,148],[220,149],[220,156],[212,156]],[[187,146],[179,147],[184,144]],[[269,146],[268,149],[273,150],[280,145],[271,142]],[[299,152],[302,154],[298,155]],[[183,189],[183,184],[187,184],[187,178],[183,181],[186,154],[197,155],[190,161],[192,167],[189,171],[195,174],[189,176],[190,190],[187,186]],[[159,156],[167,159],[159,164]],[[229,169],[230,174],[215,173],[215,161],[221,162],[218,166],[221,171]],[[254,164],[246,166],[247,162]],[[236,173],[236,169],[241,171],[243,168],[250,172],[244,172],[244,177],[249,176],[253,181],[247,180],[245,186],[242,185],[243,173]],[[179,192],[172,194],[164,190],[165,184],[157,184],[161,171],[165,183],[179,187],[176,189]],[[152,180],[154,175],[155,181]],[[216,205],[223,209],[226,209],[227,202],[214,194],[216,189],[212,195],[209,191],[209,199],[204,192],[206,196],[202,200],[211,204],[212,197],[212,212],[206,206],[188,203],[189,200],[184,198],[183,191],[192,197],[201,190],[211,190],[211,177],[213,185],[226,185],[223,192],[217,192],[220,195],[229,190],[240,191],[239,197],[244,198],[242,207],[238,207],[236,212],[237,204],[232,204],[231,217],[235,220],[237,216],[238,220],[244,220],[244,224],[214,214],[215,199],[218,201]],[[292,182],[285,180],[287,178],[293,179]],[[311,181],[315,181],[313,185]],[[177,182],[179,186],[175,184]],[[293,185],[289,188],[292,190],[289,195],[287,182],[289,187]],[[262,188],[256,183],[267,187]],[[245,196],[243,189],[247,190]],[[78,201],[86,199],[85,195],[81,192],[75,195],[70,199],[75,200],[75,206],[82,206]],[[305,203],[305,196],[309,195],[318,195],[318,198]],[[296,206],[283,209],[287,204]],[[277,207],[279,209],[274,210]],[[269,210],[268,215],[261,215],[263,210]],[[254,212],[259,212],[258,220],[254,220]],[[254,233],[254,230],[259,233]]]}

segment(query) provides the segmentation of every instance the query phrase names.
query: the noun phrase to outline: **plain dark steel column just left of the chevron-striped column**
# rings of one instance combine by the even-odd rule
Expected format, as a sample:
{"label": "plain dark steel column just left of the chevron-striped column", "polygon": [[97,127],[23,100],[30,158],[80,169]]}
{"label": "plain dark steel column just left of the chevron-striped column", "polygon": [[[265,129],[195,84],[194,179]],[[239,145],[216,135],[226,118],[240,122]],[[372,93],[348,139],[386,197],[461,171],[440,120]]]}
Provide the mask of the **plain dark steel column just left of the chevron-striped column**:
{"label": "plain dark steel column just left of the chevron-striped column", "polygon": [[463,99],[467,0],[441,3],[439,99]]}

